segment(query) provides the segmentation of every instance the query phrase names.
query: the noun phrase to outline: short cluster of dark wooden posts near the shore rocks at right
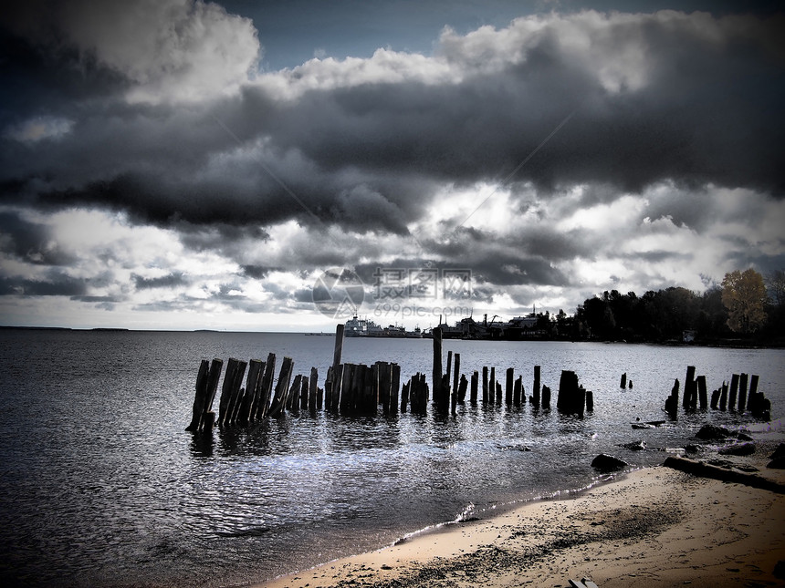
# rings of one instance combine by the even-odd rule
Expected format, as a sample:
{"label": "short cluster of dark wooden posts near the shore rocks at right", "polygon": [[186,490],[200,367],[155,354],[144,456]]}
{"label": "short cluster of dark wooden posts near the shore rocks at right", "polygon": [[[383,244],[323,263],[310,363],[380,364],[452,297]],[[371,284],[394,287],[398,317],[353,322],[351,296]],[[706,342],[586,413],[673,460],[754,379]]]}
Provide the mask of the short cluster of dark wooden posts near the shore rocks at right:
{"label": "short cluster of dark wooden posts near the shore rocks at right", "polygon": [[[696,377],[695,372],[695,366],[687,366],[681,405],[685,410],[696,410],[698,406],[706,410],[709,405],[706,376]],[[711,408],[738,412],[748,410],[756,418],[769,418],[771,401],[758,391],[758,381],[759,377],[755,374],[752,377],[748,374],[733,374],[729,385],[723,381],[722,386],[711,393]],[[671,395],[665,399],[665,412],[675,418],[678,406],[679,380],[676,378]]]}

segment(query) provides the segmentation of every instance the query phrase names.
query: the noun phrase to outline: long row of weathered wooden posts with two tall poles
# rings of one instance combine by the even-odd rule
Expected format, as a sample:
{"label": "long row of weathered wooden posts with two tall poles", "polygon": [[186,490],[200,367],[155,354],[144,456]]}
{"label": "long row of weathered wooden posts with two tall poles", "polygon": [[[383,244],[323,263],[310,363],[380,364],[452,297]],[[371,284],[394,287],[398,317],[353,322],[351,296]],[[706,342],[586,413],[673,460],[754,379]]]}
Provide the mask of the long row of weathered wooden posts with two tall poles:
{"label": "long row of weathered wooden posts with two tall poles", "polygon": [[[476,406],[506,404],[520,407],[527,402],[523,376],[515,377],[510,367],[506,372],[505,387],[497,381],[496,367],[487,366],[480,373],[475,371],[471,380],[460,373],[461,356],[447,352],[446,371],[442,368],[441,329],[434,329],[434,390],[433,406],[436,411],[456,414],[456,407],[469,402]],[[230,358],[226,364],[224,383],[218,403],[217,415],[213,403],[224,362],[202,360],[196,377],[193,416],[186,430],[210,431],[219,427],[248,427],[265,418],[275,418],[284,410],[315,412],[322,408],[341,414],[376,414],[382,407],[384,414],[405,412],[425,414],[431,400],[425,375],[415,374],[401,386],[401,367],[395,363],[378,361],[372,366],[342,364],[343,325],[336,329],[335,351],[332,366],[328,368],[324,388],[318,386],[319,373],[311,367],[309,376],[298,375],[292,381],[294,362],[284,357],[277,380],[276,355],[270,353],[267,361],[251,359],[249,362]],[[247,370],[247,377],[246,377]],[[451,377],[452,375],[452,377]],[[246,386],[243,379],[246,377]],[[481,392],[480,392],[481,391]],[[400,395],[399,395],[400,392]],[[480,396],[481,394],[481,396]],[[532,407],[550,408],[550,388],[540,386],[540,366],[534,366]],[[563,371],[560,377],[557,409],[563,414],[583,415],[593,410],[591,391],[578,384],[574,372]]]}

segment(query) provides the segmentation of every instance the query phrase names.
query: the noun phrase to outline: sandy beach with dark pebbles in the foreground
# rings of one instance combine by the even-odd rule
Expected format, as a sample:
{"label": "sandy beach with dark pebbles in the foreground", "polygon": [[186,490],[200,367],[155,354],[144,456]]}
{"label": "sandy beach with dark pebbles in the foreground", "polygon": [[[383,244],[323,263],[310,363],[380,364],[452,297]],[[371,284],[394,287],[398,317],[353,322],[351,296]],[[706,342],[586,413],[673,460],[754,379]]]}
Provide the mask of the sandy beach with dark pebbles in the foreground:
{"label": "sandy beach with dark pebbles in the foreground", "polygon": [[[700,459],[785,483],[785,470],[766,468],[779,442]],[[601,588],[785,586],[785,494],[640,469],[568,500],[526,503],[258,586],[556,587],[582,578]]]}

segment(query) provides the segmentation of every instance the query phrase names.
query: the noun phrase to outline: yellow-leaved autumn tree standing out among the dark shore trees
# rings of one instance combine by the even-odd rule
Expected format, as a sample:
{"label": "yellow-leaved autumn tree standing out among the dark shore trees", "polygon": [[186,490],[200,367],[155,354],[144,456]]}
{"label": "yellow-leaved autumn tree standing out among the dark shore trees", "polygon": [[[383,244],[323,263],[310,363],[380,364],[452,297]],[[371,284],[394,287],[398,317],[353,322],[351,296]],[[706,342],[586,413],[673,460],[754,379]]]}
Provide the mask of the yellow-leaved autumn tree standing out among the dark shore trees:
{"label": "yellow-leaved autumn tree standing out among the dark shore trees", "polygon": [[749,268],[725,274],[722,280],[722,304],[727,308],[727,325],[747,335],[766,322],[766,285],[763,276]]}

